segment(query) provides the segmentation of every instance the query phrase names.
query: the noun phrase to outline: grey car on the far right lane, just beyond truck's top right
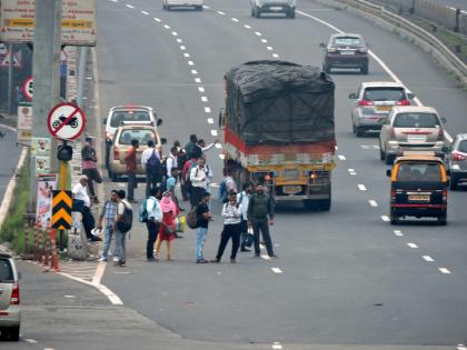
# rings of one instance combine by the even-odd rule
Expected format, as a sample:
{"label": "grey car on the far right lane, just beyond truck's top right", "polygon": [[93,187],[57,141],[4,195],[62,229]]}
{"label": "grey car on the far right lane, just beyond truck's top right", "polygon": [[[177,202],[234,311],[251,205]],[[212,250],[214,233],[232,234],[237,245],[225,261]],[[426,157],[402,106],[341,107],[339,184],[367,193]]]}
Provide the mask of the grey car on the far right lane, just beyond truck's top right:
{"label": "grey car on the far right lane, just beyond truck's top right", "polygon": [[322,70],[327,73],[334,68],[355,68],[368,74],[368,46],[360,34],[331,34],[327,44],[319,44],[325,50]]}

